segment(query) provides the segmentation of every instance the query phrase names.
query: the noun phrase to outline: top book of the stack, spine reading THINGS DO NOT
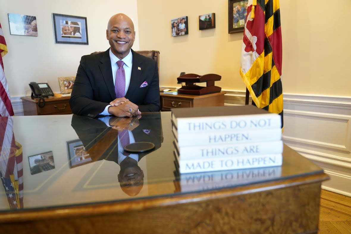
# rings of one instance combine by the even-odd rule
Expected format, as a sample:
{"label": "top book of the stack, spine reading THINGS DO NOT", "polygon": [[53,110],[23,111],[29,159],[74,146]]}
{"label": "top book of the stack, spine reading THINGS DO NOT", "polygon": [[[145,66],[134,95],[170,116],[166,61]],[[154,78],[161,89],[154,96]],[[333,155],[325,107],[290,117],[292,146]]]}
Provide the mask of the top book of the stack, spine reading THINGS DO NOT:
{"label": "top book of the stack, spine reading THINGS DO NOT", "polygon": [[281,128],[281,117],[252,105],[173,108],[178,133]]}

